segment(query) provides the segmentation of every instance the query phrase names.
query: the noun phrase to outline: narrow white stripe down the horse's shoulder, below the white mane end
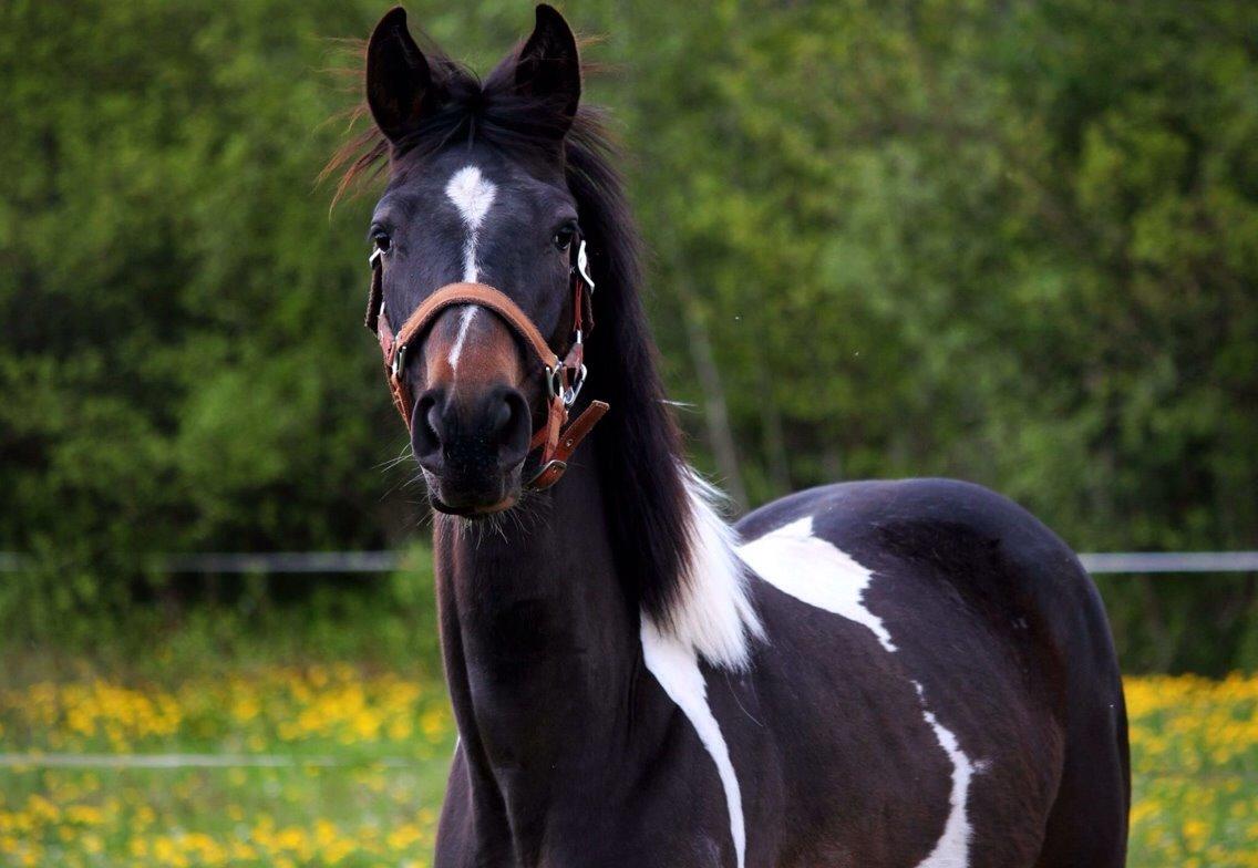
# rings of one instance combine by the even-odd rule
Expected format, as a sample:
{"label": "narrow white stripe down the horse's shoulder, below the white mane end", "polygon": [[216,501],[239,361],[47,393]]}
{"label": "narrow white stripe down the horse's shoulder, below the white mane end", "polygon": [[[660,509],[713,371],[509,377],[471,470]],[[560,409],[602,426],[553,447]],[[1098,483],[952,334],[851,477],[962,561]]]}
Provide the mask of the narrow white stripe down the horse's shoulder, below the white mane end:
{"label": "narrow white stripe down the horse's shoulder, below the white mane end", "polygon": [[742,791],[738,789],[738,777],[730,761],[730,747],[726,745],[725,736],[721,735],[721,726],[716,722],[707,703],[707,684],[703,682],[703,673],[699,672],[694,645],[678,639],[672,633],[662,632],[643,613],[642,655],[647,669],[655,676],[655,681],[664,688],[664,693],[677,703],[677,707],[689,720],[699,742],[716,764],[716,771],[721,776],[721,786],[725,790],[725,806],[730,814],[733,852],[738,859],[738,868],[742,868],[747,847],[746,825],[742,819]]}

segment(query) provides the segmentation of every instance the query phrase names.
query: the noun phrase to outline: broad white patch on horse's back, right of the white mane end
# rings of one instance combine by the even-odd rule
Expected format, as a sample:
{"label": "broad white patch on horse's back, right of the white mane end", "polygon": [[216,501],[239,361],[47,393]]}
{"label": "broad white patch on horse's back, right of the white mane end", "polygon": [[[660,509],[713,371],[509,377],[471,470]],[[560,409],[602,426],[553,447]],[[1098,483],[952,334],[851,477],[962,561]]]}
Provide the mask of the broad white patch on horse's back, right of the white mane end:
{"label": "broad white patch on horse's back, right of the white mane end", "polygon": [[806,516],[738,547],[738,556],[780,591],[810,606],[868,626],[888,652],[896,650],[882,619],[864,605],[873,572],[825,540],[813,536]]}

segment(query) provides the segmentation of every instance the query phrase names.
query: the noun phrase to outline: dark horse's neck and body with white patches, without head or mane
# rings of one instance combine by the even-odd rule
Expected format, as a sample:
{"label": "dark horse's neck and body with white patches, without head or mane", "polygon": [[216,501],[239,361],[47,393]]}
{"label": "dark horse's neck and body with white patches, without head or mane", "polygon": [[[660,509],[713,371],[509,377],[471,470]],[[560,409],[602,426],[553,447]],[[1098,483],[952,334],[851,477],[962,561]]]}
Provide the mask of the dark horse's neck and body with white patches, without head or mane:
{"label": "dark horse's neck and body with white patches, without head or mane", "polygon": [[1122,863],[1103,614],[1028,513],[950,481],[762,507],[737,527],[761,630],[730,670],[676,643],[660,663],[669,640],[591,569],[610,550],[590,476],[523,533],[438,526],[462,733],[438,865]]}

